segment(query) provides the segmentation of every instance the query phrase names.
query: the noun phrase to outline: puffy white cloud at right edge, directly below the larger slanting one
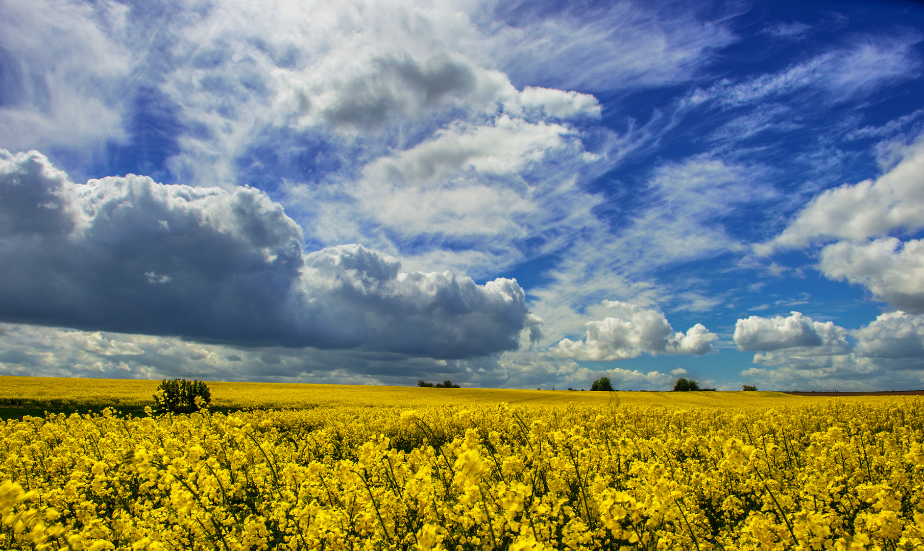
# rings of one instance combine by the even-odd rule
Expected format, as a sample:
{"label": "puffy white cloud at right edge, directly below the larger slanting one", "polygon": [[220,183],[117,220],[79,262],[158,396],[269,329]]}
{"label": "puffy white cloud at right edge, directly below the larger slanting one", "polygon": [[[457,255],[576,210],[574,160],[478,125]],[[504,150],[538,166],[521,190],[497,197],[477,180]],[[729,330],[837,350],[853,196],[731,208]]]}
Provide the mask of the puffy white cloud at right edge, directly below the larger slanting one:
{"label": "puffy white cloud at right edge, directly below the larger slanting one", "polygon": [[821,249],[819,270],[828,278],[859,283],[895,308],[924,312],[924,242],[894,237],[857,245],[842,241]]}

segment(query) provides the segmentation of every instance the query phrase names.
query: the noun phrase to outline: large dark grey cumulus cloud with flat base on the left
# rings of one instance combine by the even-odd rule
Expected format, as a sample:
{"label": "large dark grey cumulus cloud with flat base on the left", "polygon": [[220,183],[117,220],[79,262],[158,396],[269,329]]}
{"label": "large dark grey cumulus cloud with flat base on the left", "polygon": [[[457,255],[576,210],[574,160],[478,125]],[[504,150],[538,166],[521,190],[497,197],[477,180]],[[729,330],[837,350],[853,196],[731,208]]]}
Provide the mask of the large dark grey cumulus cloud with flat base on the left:
{"label": "large dark grey cumulus cloud with flat base on the left", "polygon": [[0,150],[3,321],[447,359],[516,349],[533,323],[517,281],[301,243],[257,189],[74,184],[36,151]]}

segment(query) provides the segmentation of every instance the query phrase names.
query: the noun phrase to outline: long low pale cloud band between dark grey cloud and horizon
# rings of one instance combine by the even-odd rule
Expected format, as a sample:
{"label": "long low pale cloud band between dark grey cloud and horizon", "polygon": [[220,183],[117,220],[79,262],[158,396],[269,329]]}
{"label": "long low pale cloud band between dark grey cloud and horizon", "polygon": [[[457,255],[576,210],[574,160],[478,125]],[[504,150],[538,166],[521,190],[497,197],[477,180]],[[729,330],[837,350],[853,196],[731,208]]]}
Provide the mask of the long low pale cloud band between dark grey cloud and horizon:
{"label": "long low pale cloud band between dark grey cloud and horizon", "polygon": [[413,385],[451,379],[489,388],[590,389],[610,377],[617,389],[670,389],[657,370],[591,370],[533,350],[466,360],[316,348],[234,347],[174,337],[0,324],[0,375],[258,380]]}

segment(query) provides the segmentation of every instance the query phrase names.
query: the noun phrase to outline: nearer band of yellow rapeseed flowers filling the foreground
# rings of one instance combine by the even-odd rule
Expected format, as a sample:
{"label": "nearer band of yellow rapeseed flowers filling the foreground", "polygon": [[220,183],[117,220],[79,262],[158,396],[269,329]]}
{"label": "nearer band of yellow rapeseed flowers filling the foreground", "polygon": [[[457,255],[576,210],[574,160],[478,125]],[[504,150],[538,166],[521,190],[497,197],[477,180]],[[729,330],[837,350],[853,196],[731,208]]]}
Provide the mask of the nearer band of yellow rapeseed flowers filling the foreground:
{"label": "nearer band of yellow rapeseed flowers filling the foreground", "polygon": [[924,549],[924,402],[0,425],[0,548]]}

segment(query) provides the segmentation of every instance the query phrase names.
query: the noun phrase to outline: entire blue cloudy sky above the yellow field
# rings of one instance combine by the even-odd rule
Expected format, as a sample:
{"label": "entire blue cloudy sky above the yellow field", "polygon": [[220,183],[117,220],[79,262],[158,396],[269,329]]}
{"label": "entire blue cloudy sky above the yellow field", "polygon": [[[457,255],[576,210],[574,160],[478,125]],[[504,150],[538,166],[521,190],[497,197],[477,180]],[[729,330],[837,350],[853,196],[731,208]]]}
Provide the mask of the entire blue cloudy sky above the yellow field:
{"label": "entire blue cloudy sky above the yellow field", "polygon": [[924,5],[0,0],[0,375],[924,389]]}

